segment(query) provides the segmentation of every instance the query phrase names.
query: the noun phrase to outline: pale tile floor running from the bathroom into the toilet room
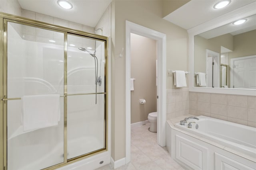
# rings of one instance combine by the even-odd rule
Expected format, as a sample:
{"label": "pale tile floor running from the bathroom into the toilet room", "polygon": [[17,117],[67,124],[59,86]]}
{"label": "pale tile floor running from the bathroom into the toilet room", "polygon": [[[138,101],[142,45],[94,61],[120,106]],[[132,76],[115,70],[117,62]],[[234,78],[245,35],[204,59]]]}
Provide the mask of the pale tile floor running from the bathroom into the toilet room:
{"label": "pale tile floor running from the bathroom into the toilet room", "polygon": [[[156,133],[148,131],[150,123],[131,128],[131,162],[116,170],[185,170],[175,162],[166,147],[156,143]],[[109,165],[97,170],[111,170]]]}

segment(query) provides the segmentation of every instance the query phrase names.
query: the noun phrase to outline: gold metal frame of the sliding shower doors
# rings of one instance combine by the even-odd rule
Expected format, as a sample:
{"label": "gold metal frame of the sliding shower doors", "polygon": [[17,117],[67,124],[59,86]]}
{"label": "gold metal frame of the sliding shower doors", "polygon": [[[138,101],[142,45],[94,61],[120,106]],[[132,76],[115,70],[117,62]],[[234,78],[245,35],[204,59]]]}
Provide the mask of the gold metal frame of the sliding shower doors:
{"label": "gold metal frame of the sliding shower doors", "polygon": [[[70,29],[54,24],[49,24],[41,21],[31,20],[20,16],[6,14],[0,12],[0,170],[7,170],[7,102],[8,100],[20,100],[20,98],[7,98],[7,22],[20,23],[57,31],[64,33],[64,162],[44,168],[43,170],[54,170],[70,163],[82,160],[89,156],[105,152],[108,150],[108,37],[87,33],[76,29]],[[104,148],[95,150],[93,152],[77,156],[75,158],[67,159],[67,97],[72,95],[84,94],[67,94],[67,37],[69,35],[81,36],[89,39],[104,42],[105,53],[105,92],[104,93],[90,93],[90,94],[104,94]],[[89,94],[89,93],[88,93]],[[86,94],[86,95],[88,95]]]}

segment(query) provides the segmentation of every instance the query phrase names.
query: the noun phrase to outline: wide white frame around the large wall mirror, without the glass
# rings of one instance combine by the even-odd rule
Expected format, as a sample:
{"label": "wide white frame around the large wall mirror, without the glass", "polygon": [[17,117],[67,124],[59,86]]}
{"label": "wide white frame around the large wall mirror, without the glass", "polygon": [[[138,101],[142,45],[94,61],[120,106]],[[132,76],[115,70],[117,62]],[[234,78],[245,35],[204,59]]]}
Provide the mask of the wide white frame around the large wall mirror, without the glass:
{"label": "wide white frame around the large wall mirror, without the glass", "polygon": [[256,14],[256,2],[252,2],[246,6],[233,10],[213,20],[207,21],[196,27],[188,29],[188,62],[189,62],[189,91],[190,92],[206,92],[219,94],[236,94],[256,96],[256,89],[239,89],[239,88],[208,88],[194,87],[194,35],[209,31],[211,29],[221,27],[236,20],[246,18]]}

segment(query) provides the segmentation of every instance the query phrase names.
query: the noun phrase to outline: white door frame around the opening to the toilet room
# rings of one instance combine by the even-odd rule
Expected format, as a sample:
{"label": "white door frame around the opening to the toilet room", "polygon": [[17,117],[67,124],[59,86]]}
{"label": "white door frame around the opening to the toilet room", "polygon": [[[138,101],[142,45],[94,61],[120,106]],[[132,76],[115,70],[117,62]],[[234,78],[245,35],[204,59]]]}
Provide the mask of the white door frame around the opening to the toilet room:
{"label": "white door frame around the opening to the toilet room", "polygon": [[126,164],[131,158],[131,57],[130,34],[134,33],[156,40],[158,60],[158,117],[157,117],[157,143],[165,146],[166,126],[166,35],[158,31],[143,27],[136,23],[126,21]]}

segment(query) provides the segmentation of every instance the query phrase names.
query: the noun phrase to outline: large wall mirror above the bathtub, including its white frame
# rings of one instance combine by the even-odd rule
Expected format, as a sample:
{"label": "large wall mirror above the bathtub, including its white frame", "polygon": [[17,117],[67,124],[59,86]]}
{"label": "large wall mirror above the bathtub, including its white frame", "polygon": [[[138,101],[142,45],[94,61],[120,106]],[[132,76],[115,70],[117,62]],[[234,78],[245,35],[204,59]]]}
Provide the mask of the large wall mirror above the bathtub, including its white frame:
{"label": "large wall mirror above the bathtub, including its white frame", "polygon": [[256,95],[256,14],[245,13],[188,30],[190,91]]}

